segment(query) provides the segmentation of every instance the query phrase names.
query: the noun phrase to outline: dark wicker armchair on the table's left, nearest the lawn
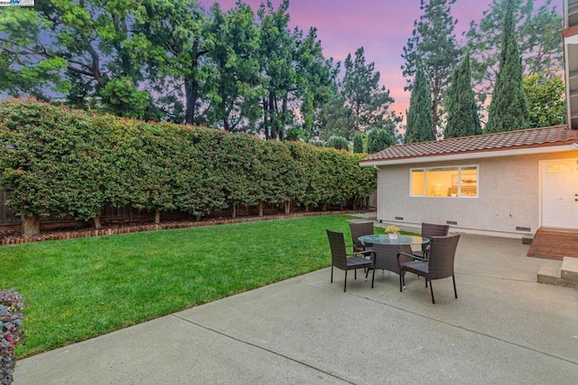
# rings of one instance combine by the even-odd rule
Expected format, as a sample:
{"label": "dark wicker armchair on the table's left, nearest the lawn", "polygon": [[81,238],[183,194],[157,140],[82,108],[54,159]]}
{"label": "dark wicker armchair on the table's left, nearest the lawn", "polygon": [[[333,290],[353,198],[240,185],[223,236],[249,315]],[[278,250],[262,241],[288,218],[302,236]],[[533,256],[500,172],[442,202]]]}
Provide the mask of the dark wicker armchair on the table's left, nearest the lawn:
{"label": "dark wicker armchair on the table's left, nearest the lawn", "polygon": [[[347,289],[347,272],[348,270],[355,270],[355,279],[357,279],[357,269],[358,268],[371,268],[373,266],[373,251],[355,251],[352,253],[347,252],[345,245],[345,237],[342,232],[335,232],[327,230],[327,236],[329,237],[329,244],[331,247],[331,283],[333,283],[333,267],[345,270],[345,280],[343,282],[343,291]],[[370,256],[371,259],[365,258]],[[373,288],[373,281],[376,276],[375,270],[373,272],[373,277],[371,277],[371,287]]]}

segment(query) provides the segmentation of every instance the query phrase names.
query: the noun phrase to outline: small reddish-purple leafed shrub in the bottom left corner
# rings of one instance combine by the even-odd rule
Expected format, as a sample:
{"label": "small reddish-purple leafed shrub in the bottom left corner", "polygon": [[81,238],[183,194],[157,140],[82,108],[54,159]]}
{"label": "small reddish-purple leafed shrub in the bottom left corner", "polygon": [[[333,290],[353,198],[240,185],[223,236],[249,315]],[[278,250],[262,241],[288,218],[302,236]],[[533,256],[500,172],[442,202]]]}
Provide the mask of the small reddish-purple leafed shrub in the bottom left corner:
{"label": "small reddish-purple leafed shrub in the bottom left corner", "polygon": [[13,290],[0,290],[0,383],[11,384],[16,365],[14,351],[23,341],[23,301]]}

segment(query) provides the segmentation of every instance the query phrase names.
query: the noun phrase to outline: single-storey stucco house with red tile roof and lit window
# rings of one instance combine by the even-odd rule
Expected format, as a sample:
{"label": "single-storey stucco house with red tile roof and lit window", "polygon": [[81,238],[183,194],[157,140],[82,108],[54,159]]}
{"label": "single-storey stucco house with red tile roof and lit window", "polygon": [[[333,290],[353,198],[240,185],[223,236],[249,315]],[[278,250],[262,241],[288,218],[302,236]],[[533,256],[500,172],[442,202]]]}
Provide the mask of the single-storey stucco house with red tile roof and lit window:
{"label": "single-storey stucco house with red tile roof and lit window", "polygon": [[534,128],[391,146],[378,170],[378,221],[523,238],[578,229],[578,130]]}

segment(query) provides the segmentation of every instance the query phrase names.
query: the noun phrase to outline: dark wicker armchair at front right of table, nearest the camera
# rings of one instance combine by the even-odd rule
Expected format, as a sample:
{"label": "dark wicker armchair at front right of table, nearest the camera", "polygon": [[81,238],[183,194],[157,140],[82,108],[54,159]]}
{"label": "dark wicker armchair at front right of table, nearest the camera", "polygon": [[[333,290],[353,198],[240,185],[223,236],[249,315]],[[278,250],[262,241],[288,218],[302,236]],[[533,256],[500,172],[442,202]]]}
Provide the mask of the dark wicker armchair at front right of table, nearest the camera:
{"label": "dark wicker armchair at front right of table, nearest the camera", "polygon": [[[397,263],[400,268],[399,275],[399,291],[403,292],[403,287],[406,286],[405,272],[417,274],[425,277],[425,287],[429,282],[430,292],[432,293],[432,303],[435,304],[433,297],[433,279],[441,279],[452,277],[453,280],[453,294],[457,298],[458,292],[455,288],[455,276],[453,273],[453,260],[455,258],[455,250],[458,247],[460,235],[451,235],[447,237],[432,237],[431,249],[428,251],[429,258],[419,258],[413,254],[399,253],[397,254]],[[403,258],[415,258],[415,261],[404,262]]]}

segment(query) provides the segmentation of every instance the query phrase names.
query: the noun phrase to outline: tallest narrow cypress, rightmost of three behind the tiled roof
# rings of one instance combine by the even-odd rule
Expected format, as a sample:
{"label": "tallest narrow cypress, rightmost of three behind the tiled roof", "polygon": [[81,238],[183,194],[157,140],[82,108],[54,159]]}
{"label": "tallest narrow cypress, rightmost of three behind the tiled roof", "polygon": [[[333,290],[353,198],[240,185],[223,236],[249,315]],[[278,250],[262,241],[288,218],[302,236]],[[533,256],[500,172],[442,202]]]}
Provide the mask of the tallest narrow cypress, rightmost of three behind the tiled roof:
{"label": "tallest narrow cypress, rightmost of three behind the tiled roof", "polygon": [[489,103],[488,132],[529,127],[527,99],[522,86],[522,61],[517,50],[515,1],[507,0],[504,8],[499,72]]}

